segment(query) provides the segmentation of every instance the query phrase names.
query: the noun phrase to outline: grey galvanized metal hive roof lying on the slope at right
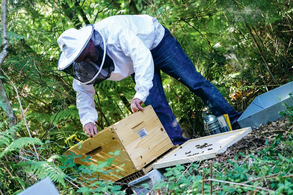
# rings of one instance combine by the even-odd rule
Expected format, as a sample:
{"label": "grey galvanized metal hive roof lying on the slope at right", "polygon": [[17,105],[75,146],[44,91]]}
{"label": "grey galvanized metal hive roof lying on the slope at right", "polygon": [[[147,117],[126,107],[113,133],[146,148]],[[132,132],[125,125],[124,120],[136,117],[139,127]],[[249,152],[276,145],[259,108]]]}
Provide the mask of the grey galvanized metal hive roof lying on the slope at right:
{"label": "grey galvanized metal hive roof lying on the slope at right", "polygon": [[289,82],[257,96],[238,119],[239,125],[241,128],[254,128],[268,121],[277,120],[281,117],[278,112],[285,110],[283,103],[293,105],[293,100],[289,96],[292,92],[293,82]]}

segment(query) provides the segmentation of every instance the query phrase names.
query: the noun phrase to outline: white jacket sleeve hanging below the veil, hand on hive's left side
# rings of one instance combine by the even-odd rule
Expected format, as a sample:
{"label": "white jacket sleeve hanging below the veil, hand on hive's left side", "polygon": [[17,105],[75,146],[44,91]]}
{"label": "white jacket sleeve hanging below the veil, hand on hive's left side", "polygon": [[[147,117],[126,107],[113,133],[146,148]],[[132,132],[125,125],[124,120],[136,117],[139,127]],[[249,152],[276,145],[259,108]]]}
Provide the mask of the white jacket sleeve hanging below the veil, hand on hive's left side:
{"label": "white jacket sleeve hanging below the veil, hand on hive's left side", "polygon": [[95,89],[93,84],[81,84],[78,80],[73,80],[73,89],[76,91],[76,107],[82,126],[89,122],[95,123],[98,119],[98,112],[95,108]]}

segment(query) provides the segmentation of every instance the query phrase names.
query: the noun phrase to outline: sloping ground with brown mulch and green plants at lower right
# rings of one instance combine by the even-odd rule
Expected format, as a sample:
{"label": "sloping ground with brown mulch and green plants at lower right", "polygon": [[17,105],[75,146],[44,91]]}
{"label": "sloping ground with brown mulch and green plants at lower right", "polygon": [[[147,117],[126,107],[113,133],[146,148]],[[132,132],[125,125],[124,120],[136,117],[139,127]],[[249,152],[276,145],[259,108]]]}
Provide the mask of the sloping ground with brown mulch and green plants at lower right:
{"label": "sloping ground with brown mulch and green plants at lower right", "polygon": [[262,125],[212,160],[167,168],[150,194],[292,194],[292,130],[285,118]]}

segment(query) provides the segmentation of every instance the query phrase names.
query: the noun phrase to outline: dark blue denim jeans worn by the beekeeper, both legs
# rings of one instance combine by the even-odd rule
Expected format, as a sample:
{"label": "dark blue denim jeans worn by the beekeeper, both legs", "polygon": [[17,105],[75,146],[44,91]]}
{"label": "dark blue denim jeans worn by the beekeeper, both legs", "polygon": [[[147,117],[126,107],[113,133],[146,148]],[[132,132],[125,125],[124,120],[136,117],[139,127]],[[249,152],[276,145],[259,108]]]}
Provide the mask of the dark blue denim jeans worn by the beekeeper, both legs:
{"label": "dark blue denim jeans worn by the beekeeper, both legs", "polygon": [[[144,102],[151,105],[158,115],[172,143],[183,144],[188,139],[182,136],[182,130],[168,104],[163,90],[160,70],[184,84],[195,95],[199,96],[216,116],[228,114],[234,121],[241,113],[236,112],[224,99],[216,87],[198,73],[180,43],[168,34],[156,48],[151,50],[154,59],[153,87]],[[131,75],[134,80],[134,74]]]}

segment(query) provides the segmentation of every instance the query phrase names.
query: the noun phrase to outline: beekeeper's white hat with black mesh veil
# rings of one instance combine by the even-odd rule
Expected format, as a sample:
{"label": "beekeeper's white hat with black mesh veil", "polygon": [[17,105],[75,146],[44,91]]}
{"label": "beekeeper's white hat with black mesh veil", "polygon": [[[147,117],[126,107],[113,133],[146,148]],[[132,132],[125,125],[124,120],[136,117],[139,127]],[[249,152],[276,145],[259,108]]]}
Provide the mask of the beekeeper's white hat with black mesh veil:
{"label": "beekeeper's white hat with black mesh veil", "polygon": [[[98,59],[90,62],[74,62],[86,48],[90,39],[95,44]],[[103,34],[94,29],[93,25],[86,25],[77,30],[65,30],[57,39],[61,54],[58,69],[73,76],[82,84],[98,84],[110,77],[114,70],[113,60],[107,55]]]}

